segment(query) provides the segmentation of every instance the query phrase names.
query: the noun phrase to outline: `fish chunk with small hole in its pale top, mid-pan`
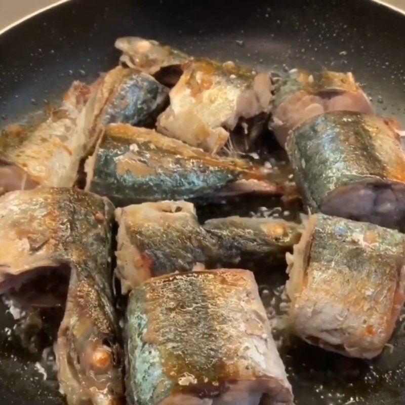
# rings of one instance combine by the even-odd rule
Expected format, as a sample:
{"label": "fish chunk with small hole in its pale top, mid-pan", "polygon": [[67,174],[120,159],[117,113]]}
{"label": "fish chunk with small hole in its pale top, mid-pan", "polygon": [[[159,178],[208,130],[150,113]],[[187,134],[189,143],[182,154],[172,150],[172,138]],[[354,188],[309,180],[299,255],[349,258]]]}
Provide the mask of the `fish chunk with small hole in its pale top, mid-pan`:
{"label": "fish chunk with small hole in its pale top, mid-pan", "polygon": [[116,274],[127,293],[150,277],[189,271],[218,260],[216,242],[185,201],[143,203],[115,210]]}

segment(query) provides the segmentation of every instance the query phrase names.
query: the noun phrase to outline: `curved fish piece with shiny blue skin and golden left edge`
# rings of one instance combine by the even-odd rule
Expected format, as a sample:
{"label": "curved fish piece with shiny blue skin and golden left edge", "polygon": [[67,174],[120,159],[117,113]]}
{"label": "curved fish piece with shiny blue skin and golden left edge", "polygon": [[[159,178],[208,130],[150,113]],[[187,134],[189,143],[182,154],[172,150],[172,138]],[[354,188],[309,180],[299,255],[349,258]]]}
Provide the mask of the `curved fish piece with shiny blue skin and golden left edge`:
{"label": "curved fish piece with shiny blue skin and golden left edge", "polygon": [[153,126],[169,101],[169,89],[152,76],[121,66],[101,77],[97,89],[80,116],[88,150],[94,147],[107,124]]}

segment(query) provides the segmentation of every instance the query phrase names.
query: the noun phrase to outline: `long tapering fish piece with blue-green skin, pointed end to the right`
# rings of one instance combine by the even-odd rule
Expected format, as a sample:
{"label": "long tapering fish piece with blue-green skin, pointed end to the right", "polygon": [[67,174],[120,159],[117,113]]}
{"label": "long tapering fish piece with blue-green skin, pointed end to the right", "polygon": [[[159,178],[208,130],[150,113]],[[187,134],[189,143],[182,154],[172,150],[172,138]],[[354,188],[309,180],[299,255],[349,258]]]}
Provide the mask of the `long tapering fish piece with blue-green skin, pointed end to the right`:
{"label": "long tapering fish piece with blue-green skin, pointed end to the right", "polygon": [[[282,194],[261,167],[245,160],[219,158],[145,128],[107,127],[86,162],[86,189],[111,199],[116,207],[165,199],[209,198],[218,192]],[[249,187],[251,185],[251,187]]]}

